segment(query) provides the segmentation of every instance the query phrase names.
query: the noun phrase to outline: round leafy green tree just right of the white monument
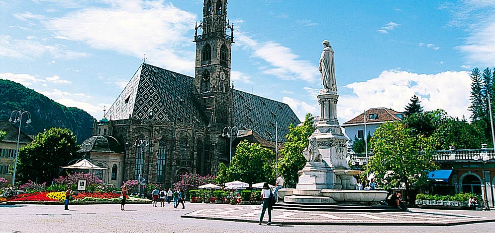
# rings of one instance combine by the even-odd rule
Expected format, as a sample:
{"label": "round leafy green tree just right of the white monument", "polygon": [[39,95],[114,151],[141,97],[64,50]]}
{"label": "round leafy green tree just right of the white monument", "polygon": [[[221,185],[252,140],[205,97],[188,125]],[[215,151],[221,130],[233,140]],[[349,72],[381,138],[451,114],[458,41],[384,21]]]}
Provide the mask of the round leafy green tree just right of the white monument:
{"label": "round leafy green tree just right of the white monument", "polygon": [[375,154],[368,168],[377,183],[385,189],[405,186],[406,197],[411,186],[424,185],[428,173],[437,169],[424,135],[412,133],[402,122],[380,125],[371,145]]}

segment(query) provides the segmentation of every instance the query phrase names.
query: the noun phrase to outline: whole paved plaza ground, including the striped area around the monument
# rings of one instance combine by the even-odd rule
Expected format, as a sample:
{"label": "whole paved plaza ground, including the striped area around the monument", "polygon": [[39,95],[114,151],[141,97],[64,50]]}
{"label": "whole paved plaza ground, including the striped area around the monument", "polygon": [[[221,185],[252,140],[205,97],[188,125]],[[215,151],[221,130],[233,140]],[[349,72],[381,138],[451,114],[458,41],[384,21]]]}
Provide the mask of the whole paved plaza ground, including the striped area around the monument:
{"label": "whole paved plaza ground, including the striped area around the monument", "polygon": [[[120,205],[0,205],[0,233],[43,232],[494,232],[495,211],[412,209],[394,213],[274,210],[258,226],[259,206],[186,203],[186,209]],[[216,219],[216,220],[215,220]],[[265,221],[268,216],[265,216]],[[233,221],[234,220],[234,221]],[[471,222],[471,224],[465,224]],[[475,223],[484,222],[484,223]],[[461,224],[442,226],[446,224]],[[417,226],[410,226],[417,225]],[[430,225],[430,226],[428,226]],[[431,226],[433,225],[433,226]]]}

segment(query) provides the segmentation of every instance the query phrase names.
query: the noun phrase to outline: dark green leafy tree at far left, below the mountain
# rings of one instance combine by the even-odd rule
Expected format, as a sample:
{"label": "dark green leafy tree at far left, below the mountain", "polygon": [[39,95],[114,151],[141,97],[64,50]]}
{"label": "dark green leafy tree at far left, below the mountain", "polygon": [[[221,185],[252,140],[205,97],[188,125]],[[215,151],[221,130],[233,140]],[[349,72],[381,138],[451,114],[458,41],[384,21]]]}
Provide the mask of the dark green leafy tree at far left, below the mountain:
{"label": "dark green leafy tree at far left, below the mountain", "polygon": [[78,158],[77,138],[69,129],[51,128],[38,133],[33,141],[19,149],[17,171],[20,180],[50,183],[59,175],[60,166]]}

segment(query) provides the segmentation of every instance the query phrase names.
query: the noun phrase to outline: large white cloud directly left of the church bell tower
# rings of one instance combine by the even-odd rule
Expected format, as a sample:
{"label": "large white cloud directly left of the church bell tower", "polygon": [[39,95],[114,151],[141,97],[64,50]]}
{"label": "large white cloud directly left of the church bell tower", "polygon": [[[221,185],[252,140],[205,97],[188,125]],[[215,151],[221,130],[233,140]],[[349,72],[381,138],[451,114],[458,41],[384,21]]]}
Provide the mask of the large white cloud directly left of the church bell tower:
{"label": "large white cloud directly left of the church bell tower", "polygon": [[87,8],[45,22],[57,38],[137,58],[147,54],[167,69],[191,72],[191,30],[196,15],[162,1],[109,1],[113,8]]}

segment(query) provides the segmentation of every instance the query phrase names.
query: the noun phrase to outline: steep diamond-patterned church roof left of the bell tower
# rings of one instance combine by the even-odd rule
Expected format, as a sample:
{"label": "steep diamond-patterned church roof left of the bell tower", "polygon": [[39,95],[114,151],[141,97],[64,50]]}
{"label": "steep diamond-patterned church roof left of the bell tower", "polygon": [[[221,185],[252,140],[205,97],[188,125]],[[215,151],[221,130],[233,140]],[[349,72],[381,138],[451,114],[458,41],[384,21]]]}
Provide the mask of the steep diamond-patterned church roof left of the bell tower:
{"label": "steep diamond-patterned church roof left of the bell tower", "polygon": [[194,98],[194,78],[143,63],[106,116],[112,120],[149,119],[204,122]]}

